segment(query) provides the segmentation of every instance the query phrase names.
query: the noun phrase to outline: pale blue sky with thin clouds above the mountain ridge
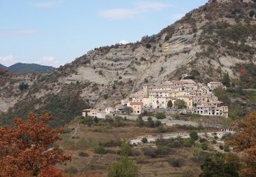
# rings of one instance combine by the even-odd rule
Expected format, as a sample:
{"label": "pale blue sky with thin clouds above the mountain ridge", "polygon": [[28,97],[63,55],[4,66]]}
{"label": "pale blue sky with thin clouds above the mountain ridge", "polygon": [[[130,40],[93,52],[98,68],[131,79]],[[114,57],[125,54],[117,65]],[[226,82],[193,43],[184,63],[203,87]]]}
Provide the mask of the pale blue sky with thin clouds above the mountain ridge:
{"label": "pale blue sky with thin clouds above the mountain ridge", "polygon": [[0,63],[59,67],[100,46],[137,42],[208,0],[0,0]]}

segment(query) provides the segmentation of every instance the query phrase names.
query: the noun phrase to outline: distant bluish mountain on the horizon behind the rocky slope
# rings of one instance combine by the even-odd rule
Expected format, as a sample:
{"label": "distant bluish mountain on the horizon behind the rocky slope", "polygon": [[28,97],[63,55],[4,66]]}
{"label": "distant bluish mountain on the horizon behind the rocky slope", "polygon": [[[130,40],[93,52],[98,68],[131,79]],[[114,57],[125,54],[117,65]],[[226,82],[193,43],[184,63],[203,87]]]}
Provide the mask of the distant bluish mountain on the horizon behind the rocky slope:
{"label": "distant bluish mountain on the horizon behind the rocky slope", "polygon": [[38,65],[38,64],[27,64],[27,63],[16,63],[8,67],[8,70],[13,73],[46,73],[53,71],[54,67]]}

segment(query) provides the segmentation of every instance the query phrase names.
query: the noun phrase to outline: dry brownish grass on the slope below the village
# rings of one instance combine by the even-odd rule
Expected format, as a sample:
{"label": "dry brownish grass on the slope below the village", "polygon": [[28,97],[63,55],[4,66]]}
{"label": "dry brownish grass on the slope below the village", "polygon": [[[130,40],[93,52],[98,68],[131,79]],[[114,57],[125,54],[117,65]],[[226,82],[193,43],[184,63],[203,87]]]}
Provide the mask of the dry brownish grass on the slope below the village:
{"label": "dry brownish grass on the slope below the village", "polygon": [[[104,127],[92,126],[87,127],[81,125],[77,131],[76,139],[70,138],[72,133],[62,135],[63,140],[58,142],[59,147],[64,152],[72,155],[72,161],[62,165],[57,165],[61,170],[65,170],[70,166],[74,166],[79,174],[84,175],[85,172],[92,172],[93,174],[102,174],[106,176],[108,167],[111,163],[115,163],[119,155],[106,154],[97,155],[93,150],[101,142],[109,142],[109,140],[122,140],[122,138],[135,138],[143,135],[159,134],[158,129],[150,127],[137,127],[136,122],[126,120],[124,127]],[[75,127],[76,123],[72,123],[69,127]],[[169,128],[170,129],[170,128]],[[170,131],[182,131],[181,129],[173,128]],[[140,149],[141,147],[134,147]],[[119,150],[119,147],[106,148],[111,150]],[[200,172],[200,165],[191,161],[192,152],[190,148],[174,149],[175,153],[158,158],[150,158],[141,155],[130,157],[137,162],[140,169],[140,176],[198,176]],[[87,152],[89,157],[80,157],[79,152]],[[172,167],[168,162],[168,158],[182,158],[185,163],[182,167]],[[70,176],[71,174],[68,174]],[[77,176],[76,175],[76,176]]]}

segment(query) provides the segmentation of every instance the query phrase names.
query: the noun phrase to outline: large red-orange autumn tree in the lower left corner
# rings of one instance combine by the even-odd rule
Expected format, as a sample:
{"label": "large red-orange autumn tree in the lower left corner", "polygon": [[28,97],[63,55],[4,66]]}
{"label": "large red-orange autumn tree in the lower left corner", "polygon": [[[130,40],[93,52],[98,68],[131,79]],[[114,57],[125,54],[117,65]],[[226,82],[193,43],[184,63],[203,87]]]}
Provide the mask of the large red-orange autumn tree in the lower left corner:
{"label": "large red-orange autumn tree in the lower left corner", "polygon": [[70,160],[58,148],[51,148],[61,129],[46,125],[53,116],[43,111],[42,116],[30,113],[27,120],[14,118],[14,127],[0,129],[0,176],[35,176],[36,172]]}

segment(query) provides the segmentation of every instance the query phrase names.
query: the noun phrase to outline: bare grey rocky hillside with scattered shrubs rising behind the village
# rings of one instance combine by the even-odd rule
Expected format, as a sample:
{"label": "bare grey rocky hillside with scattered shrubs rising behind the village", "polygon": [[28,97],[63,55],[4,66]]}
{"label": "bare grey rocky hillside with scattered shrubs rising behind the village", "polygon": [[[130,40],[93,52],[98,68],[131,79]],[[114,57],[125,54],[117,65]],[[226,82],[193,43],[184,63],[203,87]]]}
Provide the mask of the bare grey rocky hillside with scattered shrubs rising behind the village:
{"label": "bare grey rocky hillside with scattered shrubs rising behind the village", "polygon": [[[62,107],[70,111],[72,99],[84,108],[114,106],[143,83],[177,80],[182,74],[200,82],[229,74],[233,85],[256,88],[255,14],[251,0],[210,1],[141,42],[96,48],[50,74],[11,76],[0,87],[0,111],[8,112],[2,122],[48,108],[55,100],[66,100]],[[22,83],[28,88],[20,91]],[[54,111],[61,120],[63,114]]]}

